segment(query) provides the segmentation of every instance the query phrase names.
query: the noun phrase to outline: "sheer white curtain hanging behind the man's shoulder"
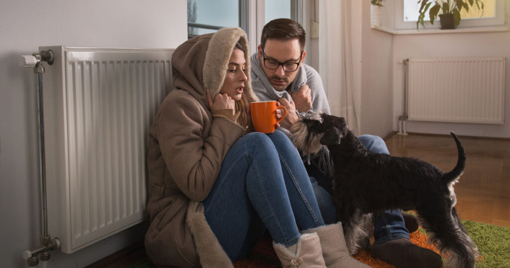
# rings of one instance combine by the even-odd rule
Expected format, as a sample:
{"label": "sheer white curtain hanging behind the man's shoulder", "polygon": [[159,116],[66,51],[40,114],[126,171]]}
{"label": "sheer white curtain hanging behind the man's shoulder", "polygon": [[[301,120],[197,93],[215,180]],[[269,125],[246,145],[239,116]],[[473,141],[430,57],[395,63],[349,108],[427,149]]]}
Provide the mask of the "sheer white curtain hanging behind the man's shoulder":
{"label": "sheer white curtain hanging behind the man's shoulder", "polygon": [[351,1],[319,1],[319,70],[331,114],[345,117],[359,135],[361,104],[354,92]]}

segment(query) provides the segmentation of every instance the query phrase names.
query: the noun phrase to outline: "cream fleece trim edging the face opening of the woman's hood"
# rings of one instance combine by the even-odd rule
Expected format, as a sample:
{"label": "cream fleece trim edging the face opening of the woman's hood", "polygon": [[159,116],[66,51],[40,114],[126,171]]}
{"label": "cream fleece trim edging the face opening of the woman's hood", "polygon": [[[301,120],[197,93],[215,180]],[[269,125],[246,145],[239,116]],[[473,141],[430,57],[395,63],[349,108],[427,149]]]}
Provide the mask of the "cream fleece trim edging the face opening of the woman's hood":
{"label": "cream fleece trim edging the face opening of the woman's hood", "polygon": [[241,28],[222,28],[214,33],[207,47],[206,59],[203,63],[202,79],[203,88],[211,90],[214,100],[219,93],[228,67],[228,60],[232,56],[236,43],[240,41],[243,46],[244,59],[246,60],[246,77],[244,95],[248,102],[257,101],[258,98],[251,90],[250,79],[250,54],[248,51],[248,38]]}

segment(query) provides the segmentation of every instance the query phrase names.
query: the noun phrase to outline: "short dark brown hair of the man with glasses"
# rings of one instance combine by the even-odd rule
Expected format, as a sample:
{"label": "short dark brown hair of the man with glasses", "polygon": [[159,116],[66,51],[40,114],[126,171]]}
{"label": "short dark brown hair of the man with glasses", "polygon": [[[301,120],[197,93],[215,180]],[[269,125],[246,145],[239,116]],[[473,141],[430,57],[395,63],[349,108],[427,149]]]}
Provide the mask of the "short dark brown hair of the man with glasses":
{"label": "short dark brown hair of the man with glasses", "polygon": [[299,40],[301,52],[303,52],[305,37],[306,33],[297,21],[288,18],[277,18],[269,21],[264,26],[260,43],[262,48],[264,48],[267,39],[277,39],[281,41],[297,39]]}

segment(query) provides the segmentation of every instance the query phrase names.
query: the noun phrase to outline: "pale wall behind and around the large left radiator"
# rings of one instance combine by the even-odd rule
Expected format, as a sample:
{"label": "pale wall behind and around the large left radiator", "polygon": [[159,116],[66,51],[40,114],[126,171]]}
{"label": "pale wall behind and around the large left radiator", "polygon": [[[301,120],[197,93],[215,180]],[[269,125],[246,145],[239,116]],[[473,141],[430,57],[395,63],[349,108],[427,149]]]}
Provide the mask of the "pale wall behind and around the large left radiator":
{"label": "pale wall behind and around the large left radiator", "polygon": [[[21,254],[40,236],[36,77],[18,66],[19,56],[42,45],[174,48],[187,38],[186,16],[186,0],[0,2],[0,266],[26,266]],[[83,267],[145,230],[141,224],[70,255],[54,251],[48,267]]]}

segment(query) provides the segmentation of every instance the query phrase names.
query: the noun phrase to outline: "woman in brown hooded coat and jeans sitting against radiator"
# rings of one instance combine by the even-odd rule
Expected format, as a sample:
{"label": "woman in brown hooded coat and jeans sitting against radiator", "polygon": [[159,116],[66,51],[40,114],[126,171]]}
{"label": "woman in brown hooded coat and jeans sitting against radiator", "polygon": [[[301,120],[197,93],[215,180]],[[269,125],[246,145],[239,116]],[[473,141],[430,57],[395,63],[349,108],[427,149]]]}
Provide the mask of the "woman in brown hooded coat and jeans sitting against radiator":
{"label": "woman in brown hooded coat and jeans sitting against radiator", "polygon": [[249,133],[246,107],[257,97],[248,56],[239,28],[173,53],[176,89],[149,130],[148,256],[158,266],[231,267],[267,228],[284,266],[361,264],[348,256],[341,225],[324,226],[287,136]]}

